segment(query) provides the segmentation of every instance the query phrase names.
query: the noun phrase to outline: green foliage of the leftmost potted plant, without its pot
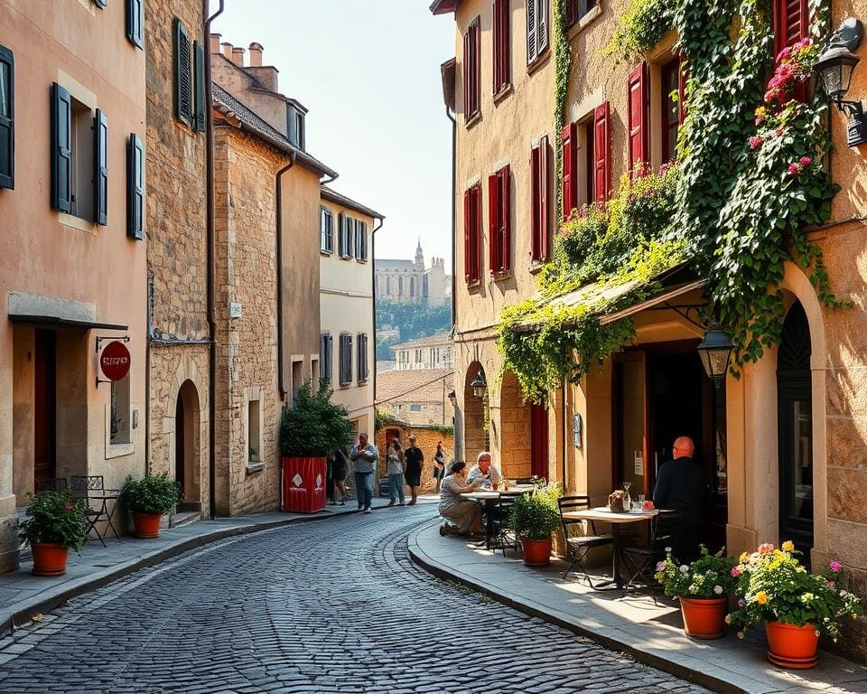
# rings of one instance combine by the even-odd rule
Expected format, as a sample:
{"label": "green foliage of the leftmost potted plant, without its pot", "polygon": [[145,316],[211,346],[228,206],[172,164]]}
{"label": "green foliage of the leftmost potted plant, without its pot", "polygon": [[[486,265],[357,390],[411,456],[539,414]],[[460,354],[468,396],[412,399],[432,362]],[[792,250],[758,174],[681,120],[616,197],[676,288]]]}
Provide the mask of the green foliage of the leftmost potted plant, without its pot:
{"label": "green foliage of the leftmost potted plant, without its pot", "polygon": [[46,490],[28,494],[26,517],[18,525],[18,537],[31,545],[53,542],[64,549],[84,544],[84,502],[73,501],[70,492]]}

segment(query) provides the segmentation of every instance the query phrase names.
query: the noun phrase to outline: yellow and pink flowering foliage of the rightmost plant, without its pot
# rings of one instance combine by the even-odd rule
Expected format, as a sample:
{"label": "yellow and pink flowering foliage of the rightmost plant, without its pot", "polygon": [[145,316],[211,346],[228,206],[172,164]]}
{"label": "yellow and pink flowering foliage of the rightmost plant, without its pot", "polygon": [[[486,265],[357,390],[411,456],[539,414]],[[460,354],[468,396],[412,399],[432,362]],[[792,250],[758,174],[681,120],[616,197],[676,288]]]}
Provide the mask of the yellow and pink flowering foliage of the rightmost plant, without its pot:
{"label": "yellow and pink flowering foliage of the rightmost plant, without its pot", "polygon": [[862,614],[861,600],[844,589],[839,562],[813,574],[798,561],[798,554],[790,540],[782,549],[766,543],[752,554],[741,554],[740,563],[732,568],[738,579],[738,609],[725,618],[740,627],[739,637],[750,624],[768,620],[813,624],[816,633],[836,640],[843,618]]}

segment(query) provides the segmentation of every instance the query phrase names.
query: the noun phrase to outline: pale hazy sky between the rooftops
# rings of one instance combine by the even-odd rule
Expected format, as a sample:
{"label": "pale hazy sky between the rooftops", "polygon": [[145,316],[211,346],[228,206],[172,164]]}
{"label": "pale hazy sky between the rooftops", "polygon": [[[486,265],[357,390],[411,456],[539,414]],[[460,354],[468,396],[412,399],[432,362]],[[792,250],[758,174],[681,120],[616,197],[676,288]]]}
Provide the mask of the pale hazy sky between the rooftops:
{"label": "pale hazy sky between the rooftops", "polygon": [[[428,0],[226,0],[221,41],[265,47],[279,89],[310,109],[307,151],[340,174],[332,187],[386,216],[378,258],[452,264],[452,124],[440,64],[451,15]],[[211,0],[211,7],[217,3]],[[248,53],[245,54],[248,60]]]}

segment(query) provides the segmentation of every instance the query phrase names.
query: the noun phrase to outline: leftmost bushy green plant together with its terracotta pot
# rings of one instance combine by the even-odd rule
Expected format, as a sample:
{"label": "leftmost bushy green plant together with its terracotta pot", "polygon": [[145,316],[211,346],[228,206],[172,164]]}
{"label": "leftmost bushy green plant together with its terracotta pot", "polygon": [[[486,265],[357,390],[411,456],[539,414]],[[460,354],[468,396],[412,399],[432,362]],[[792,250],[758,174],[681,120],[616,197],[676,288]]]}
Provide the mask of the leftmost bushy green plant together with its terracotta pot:
{"label": "leftmost bushy green plant together with its terracotta pot", "polygon": [[61,576],[66,573],[70,549],[79,549],[84,531],[84,502],[73,501],[70,492],[46,490],[28,494],[25,518],[18,537],[33,549],[33,574]]}

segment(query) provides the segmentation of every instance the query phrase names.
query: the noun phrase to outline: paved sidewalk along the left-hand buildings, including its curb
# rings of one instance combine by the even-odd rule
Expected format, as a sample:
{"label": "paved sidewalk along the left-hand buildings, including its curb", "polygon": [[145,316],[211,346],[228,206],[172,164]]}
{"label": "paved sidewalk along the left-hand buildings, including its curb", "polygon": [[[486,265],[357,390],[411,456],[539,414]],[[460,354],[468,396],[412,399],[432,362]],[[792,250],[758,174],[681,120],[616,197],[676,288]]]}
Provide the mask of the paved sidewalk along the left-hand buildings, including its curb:
{"label": "paved sidewalk along the left-hand buildings, including its curb", "polygon": [[[374,509],[386,504],[384,499],[373,500]],[[66,574],[60,577],[33,576],[33,562],[28,560],[27,554],[17,571],[0,574],[0,634],[13,628],[14,624],[29,621],[33,614],[48,612],[72,597],[190,549],[258,530],[358,512],[355,502],[350,500],[346,506],[326,506],[318,513],[256,513],[198,521],[178,528],[163,528],[156,539],[131,536],[107,539],[107,547],[98,540],[89,540],[79,553],[70,552]]]}

